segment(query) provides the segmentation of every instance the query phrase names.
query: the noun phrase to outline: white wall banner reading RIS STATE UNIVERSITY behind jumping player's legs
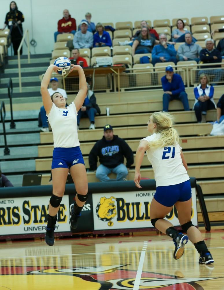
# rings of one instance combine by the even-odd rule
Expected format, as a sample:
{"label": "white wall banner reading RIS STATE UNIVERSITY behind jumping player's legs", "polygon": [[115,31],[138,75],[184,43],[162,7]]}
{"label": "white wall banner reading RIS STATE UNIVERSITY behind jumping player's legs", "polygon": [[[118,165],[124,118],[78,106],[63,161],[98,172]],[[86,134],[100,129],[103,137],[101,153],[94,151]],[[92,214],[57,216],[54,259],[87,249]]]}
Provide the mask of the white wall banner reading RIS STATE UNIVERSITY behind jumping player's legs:
{"label": "white wall banner reading RIS STATE UNIVERSITY behind jumping player's legs", "polygon": [[[45,233],[49,196],[0,199],[0,235]],[[70,232],[69,196],[64,195],[55,232]]]}

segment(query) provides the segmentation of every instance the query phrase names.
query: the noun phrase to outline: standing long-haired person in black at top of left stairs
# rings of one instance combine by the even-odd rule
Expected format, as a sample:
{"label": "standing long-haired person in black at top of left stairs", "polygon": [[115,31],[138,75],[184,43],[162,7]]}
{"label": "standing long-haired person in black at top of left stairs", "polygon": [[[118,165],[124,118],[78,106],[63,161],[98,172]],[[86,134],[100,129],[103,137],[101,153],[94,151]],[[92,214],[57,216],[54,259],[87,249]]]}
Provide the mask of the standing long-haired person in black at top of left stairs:
{"label": "standing long-haired person in black at top of left stairs", "polygon": [[[1,30],[4,30],[6,26],[11,30],[11,41],[14,55],[17,55],[17,50],[23,38],[22,22],[24,21],[24,16],[23,13],[18,10],[15,1],[10,3],[9,10],[10,11],[5,16],[5,24]],[[21,48],[20,54],[23,54],[23,48]]]}

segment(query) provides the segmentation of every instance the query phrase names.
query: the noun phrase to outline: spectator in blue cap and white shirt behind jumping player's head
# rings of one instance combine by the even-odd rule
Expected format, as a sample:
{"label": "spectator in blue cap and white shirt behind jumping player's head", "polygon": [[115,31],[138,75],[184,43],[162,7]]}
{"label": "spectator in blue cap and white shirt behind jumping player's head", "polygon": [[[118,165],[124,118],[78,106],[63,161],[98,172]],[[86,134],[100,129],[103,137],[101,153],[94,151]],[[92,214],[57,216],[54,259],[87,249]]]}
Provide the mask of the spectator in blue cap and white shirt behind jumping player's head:
{"label": "spectator in blue cap and white shirt behind jumping player's head", "polygon": [[[64,89],[58,88],[59,82],[58,79],[56,77],[52,77],[50,79],[50,84],[51,84],[51,88],[48,89],[48,92],[50,94],[50,96],[53,95],[53,93],[60,93],[64,96],[64,98],[67,100],[67,94],[66,91]],[[68,104],[66,104],[66,106],[68,106]],[[39,113],[39,124],[42,124],[42,128],[40,129],[40,131],[42,132],[49,132],[49,127],[48,127],[48,118],[46,115],[46,111],[44,106],[40,107],[40,113]]]}

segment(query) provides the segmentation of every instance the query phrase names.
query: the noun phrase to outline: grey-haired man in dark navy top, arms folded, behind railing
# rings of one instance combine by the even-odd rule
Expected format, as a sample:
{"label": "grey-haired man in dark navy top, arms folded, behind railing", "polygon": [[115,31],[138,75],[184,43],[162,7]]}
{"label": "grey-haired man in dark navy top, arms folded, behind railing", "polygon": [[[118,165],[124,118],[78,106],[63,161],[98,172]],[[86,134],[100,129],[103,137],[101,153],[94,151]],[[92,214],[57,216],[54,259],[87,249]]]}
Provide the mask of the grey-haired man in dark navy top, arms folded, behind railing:
{"label": "grey-haired man in dark navy top, arms folded, behind railing", "polygon": [[[222,62],[222,56],[219,50],[214,48],[214,40],[207,38],[205,41],[206,48],[200,51],[200,64],[215,64]],[[208,76],[214,75],[213,85],[216,82],[222,81],[224,71],[220,69],[221,65],[212,65],[212,66],[202,66],[199,71],[199,75],[202,73],[207,74]],[[206,70],[205,68],[217,68],[215,70]]]}

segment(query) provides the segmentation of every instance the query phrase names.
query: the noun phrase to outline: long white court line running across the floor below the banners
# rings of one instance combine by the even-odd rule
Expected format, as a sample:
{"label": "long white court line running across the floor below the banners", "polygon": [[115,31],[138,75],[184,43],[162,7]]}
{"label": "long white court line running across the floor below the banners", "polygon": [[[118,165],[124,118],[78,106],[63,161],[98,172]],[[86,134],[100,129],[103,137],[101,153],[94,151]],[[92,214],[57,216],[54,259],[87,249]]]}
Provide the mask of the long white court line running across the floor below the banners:
{"label": "long white court line running across the floor below the banners", "polygon": [[[224,249],[224,247],[212,247],[208,249]],[[184,251],[186,250],[195,250],[195,248],[184,248]],[[167,252],[167,251],[173,251],[173,249],[166,249],[166,250],[147,250],[146,252]],[[139,253],[142,251],[121,251],[121,252],[102,252],[102,253],[82,253],[82,254],[61,254],[61,255],[39,255],[39,256],[17,256],[17,257],[0,257],[0,260],[2,259],[18,259],[18,258],[38,258],[38,257],[62,257],[62,256],[79,256],[79,255],[102,255],[102,254],[120,254],[120,253]]]}

